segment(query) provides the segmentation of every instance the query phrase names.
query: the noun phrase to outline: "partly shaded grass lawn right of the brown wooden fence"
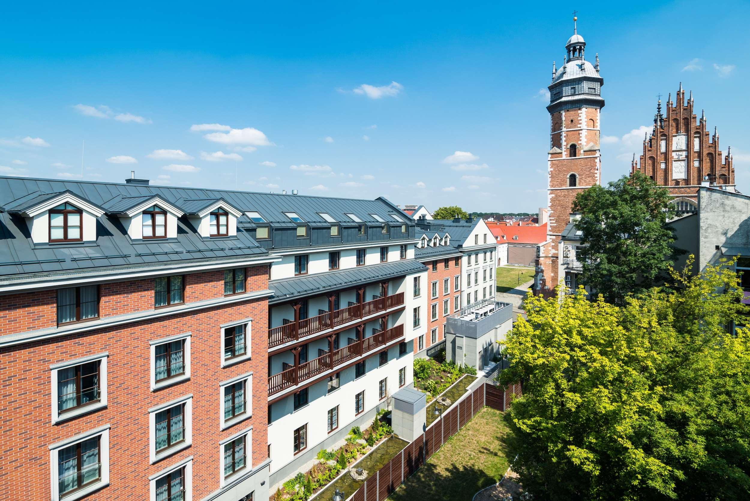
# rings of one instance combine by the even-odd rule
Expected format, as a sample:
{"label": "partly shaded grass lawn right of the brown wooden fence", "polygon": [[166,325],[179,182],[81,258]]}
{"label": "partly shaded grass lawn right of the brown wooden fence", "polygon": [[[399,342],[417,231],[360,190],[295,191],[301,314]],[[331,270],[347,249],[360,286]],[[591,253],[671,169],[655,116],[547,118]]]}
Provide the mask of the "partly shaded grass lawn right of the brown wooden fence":
{"label": "partly shaded grass lawn right of the brown wooden fence", "polygon": [[505,475],[510,433],[503,413],[484,407],[389,499],[471,501]]}

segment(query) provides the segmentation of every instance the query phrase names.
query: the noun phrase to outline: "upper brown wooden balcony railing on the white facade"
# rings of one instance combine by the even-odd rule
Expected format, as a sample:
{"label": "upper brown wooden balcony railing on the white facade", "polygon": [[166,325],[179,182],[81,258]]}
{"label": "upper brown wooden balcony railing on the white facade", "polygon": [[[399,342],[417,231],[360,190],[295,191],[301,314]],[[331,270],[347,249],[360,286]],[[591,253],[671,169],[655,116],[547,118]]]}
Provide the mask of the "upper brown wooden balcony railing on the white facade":
{"label": "upper brown wooden balcony railing on the white facade", "polygon": [[366,303],[351,303],[341,310],[326,311],[317,317],[306,318],[299,322],[285,323],[283,326],[269,329],[269,348],[278,347],[290,341],[299,341],[328,329],[334,329],[363,317],[380,313],[404,304],[404,293],[384,296]]}

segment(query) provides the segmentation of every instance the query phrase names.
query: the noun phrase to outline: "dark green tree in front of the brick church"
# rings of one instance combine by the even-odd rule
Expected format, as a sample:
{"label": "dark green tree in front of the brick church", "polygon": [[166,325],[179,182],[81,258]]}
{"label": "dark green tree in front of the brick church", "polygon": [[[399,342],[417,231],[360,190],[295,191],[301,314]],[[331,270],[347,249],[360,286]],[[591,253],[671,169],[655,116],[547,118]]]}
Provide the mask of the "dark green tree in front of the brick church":
{"label": "dark green tree in front of the brick church", "polygon": [[670,201],[665,188],[640,173],[578,193],[573,211],[580,214],[581,283],[616,305],[626,294],[660,283],[683,254],[672,245]]}

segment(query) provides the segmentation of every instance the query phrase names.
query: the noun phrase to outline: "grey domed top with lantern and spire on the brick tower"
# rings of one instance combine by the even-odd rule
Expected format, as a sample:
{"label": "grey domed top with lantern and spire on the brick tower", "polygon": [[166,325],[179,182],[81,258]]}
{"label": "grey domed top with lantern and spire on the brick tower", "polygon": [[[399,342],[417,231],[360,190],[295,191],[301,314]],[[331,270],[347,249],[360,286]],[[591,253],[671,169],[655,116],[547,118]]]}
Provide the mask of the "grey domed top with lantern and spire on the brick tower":
{"label": "grey domed top with lantern and spire on the brick tower", "polygon": [[586,61],[586,40],[578,34],[575,24],[577,20],[577,17],[573,18],[573,35],[565,43],[567,53],[562,68],[558,70],[554,64],[552,66],[552,83],[548,87],[550,104],[547,106],[550,113],[583,107],[604,107],[604,99],[601,98],[604,79],[599,75],[599,56],[596,55],[593,65]]}

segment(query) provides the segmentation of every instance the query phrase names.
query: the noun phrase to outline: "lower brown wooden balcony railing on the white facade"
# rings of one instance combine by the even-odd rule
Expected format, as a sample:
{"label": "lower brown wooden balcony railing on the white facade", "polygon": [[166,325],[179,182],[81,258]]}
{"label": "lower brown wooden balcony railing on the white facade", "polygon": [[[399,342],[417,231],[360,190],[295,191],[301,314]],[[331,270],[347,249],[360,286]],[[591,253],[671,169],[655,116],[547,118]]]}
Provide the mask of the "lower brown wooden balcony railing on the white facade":
{"label": "lower brown wooden balcony railing on the white facade", "polygon": [[386,344],[404,337],[404,325],[395,326],[392,329],[381,331],[376,335],[365,338],[362,341],[356,341],[346,347],[339,348],[333,353],[326,353],[317,359],[300,364],[299,367],[292,366],[287,368],[284,365],[284,371],[269,377],[269,396],[278,392],[283,392],[287,388],[299,385],[303,381],[323,374],[330,369],[344,365],[350,360],[365,355],[377,348],[384,347]]}

